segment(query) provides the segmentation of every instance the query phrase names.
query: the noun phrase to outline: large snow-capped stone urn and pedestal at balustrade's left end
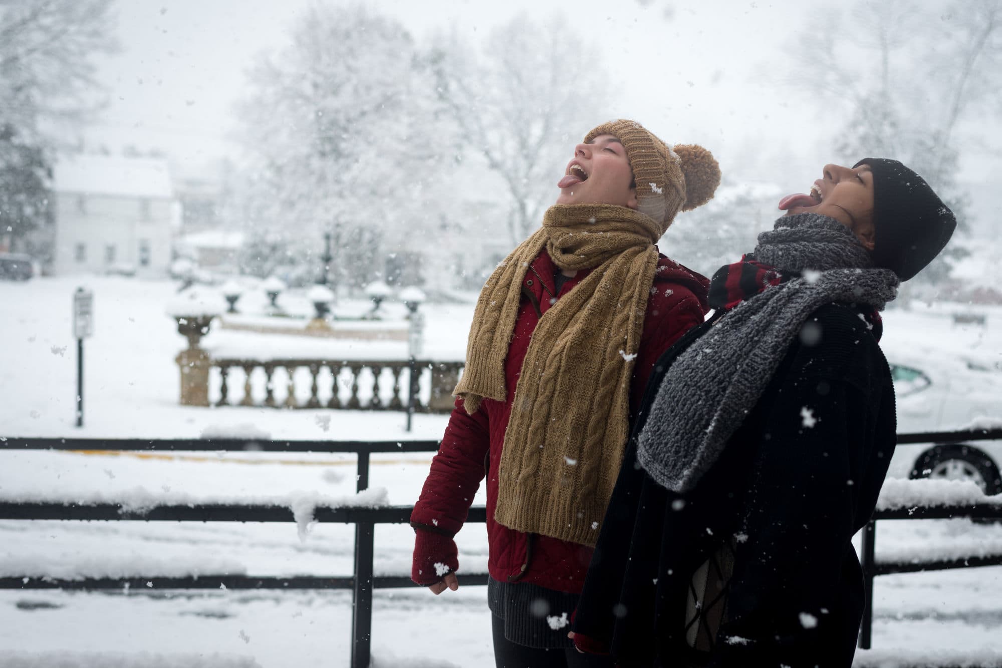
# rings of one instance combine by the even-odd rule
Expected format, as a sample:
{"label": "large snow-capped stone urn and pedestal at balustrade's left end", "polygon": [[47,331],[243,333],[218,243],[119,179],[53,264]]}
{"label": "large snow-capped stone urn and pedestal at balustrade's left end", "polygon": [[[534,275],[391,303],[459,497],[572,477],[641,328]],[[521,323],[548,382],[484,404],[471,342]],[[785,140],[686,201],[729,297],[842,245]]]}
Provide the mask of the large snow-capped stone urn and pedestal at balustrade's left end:
{"label": "large snow-capped stone urn and pedestal at balustrade's left end", "polygon": [[174,361],[181,374],[180,403],[182,406],[207,406],[208,372],[211,358],[199,344],[208,333],[212,318],[220,315],[225,305],[217,293],[188,290],[176,297],[167,313],[177,321],[177,332],[187,339],[188,347],[177,353]]}

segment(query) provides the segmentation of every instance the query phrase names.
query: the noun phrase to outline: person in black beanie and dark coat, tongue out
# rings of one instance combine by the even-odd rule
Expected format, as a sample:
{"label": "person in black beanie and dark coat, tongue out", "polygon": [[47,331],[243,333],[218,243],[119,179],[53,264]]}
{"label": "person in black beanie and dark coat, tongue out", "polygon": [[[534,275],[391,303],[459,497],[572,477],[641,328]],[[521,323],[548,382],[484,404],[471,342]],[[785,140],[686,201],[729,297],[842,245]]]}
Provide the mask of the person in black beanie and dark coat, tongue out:
{"label": "person in black beanie and dark coat, tongue out", "polygon": [[879,311],[956,220],[897,160],[826,165],[706,323],[655,365],[573,633],[617,665],[845,667],[864,605],[851,540],[895,448]]}

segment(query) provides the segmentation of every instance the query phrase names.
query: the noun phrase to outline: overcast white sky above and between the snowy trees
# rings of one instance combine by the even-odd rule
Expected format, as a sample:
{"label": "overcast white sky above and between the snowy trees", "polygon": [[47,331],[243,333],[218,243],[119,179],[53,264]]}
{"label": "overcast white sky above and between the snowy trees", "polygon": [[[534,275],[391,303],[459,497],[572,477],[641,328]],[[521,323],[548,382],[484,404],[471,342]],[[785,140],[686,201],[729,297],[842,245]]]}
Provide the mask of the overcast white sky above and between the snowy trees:
{"label": "overcast white sky above and between the snowy trees", "polygon": [[[227,134],[244,73],[263,49],[281,47],[298,14],[317,0],[128,0],[117,8],[122,50],[101,63],[110,104],[86,132],[91,145],[156,147],[189,168],[238,152]],[[330,0],[332,2],[340,0]],[[933,0],[927,0],[933,2]],[[635,118],[666,140],[699,142],[725,173],[807,188],[832,160],[831,130],[845,110],[824,114],[810,90],[784,90],[771,70],[796,48],[804,25],[832,5],[797,0],[370,0],[419,39],[454,25],[486,35],[525,12],[565,17],[610,72],[609,116]],[[943,4],[943,3],[933,3]],[[823,75],[823,73],[819,73]],[[582,90],[582,94],[589,91]],[[596,118],[596,123],[604,118]],[[965,180],[997,174],[999,119],[971,119],[991,130],[962,165]],[[585,128],[586,129],[586,128]],[[754,154],[759,159],[748,159]],[[769,174],[757,174],[770,165]],[[791,184],[792,180],[796,183]],[[801,183],[803,182],[803,183]]]}

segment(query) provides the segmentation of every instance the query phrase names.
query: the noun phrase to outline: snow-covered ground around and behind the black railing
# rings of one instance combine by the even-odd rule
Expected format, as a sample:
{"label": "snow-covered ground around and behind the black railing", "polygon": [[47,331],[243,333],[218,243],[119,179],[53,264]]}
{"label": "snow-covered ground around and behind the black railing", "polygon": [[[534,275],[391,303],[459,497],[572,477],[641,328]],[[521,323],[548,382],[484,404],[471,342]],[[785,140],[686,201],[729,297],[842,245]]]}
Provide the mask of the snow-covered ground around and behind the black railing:
{"label": "snow-covered ground around and behind the black railing", "polygon": [[[86,284],[94,289],[97,328],[86,343],[86,424],[77,428],[70,327],[77,281],[0,283],[0,436],[441,436],[443,416],[418,415],[408,433],[398,413],[178,406],[173,356],[185,342],[164,309],[175,286],[117,278],[91,278]],[[461,358],[472,303],[422,308],[429,356]],[[923,346],[992,358],[1002,350],[1002,313],[988,313],[986,327],[958,327],[949,306],[891,311],[885,346],[889,355],[896,348]],[[346,354],[362,356],[371,344],[341,342]],[[384,488],[390,504],[412,504],[430,459],[430,453],[375,455],[370,484]],[[344,498],[355,491],[355,459],[323,453],[0,451],[0,491],[7,496],[56,491],[110,496],[133,493],[137,487],[185,498],[297,493]],[[482,490],[474,503],[484,503]],[[378,574],[409,573],[412,537],[406,526],[377,529]],[[483,527],[467,527],[457,543],[461,568],[483,572]],[[882,523],[878,530],[878,558],[959,545],[971,546],[972,554],[1002,546],[1002,525],[902,521]],[[352,551],[353,529],[347,526],[317,525],[301,540],[292,523],[0,522],[0,577],[152,576],[195,567],[203,574],[347,575]],[[417,588],[378,591],[373,616],[377,665],[492,665],[485,595],[483,587],[440,597]],[[874,647],[892,656],[907,648],[920,654],[970,650],[1002,658],[1000,601],[1002,567],[878,578]],[[111,666],[160,665],[155,657],[170,656],[176,661],[162,665],[347,666],[350,634],[349,592],[0,591],[3,665],[63,665],[58,661],[65,655],[59,652],[74,651],[105,653],[93,665]],[[154,658],[135,659],[140,652]]]}

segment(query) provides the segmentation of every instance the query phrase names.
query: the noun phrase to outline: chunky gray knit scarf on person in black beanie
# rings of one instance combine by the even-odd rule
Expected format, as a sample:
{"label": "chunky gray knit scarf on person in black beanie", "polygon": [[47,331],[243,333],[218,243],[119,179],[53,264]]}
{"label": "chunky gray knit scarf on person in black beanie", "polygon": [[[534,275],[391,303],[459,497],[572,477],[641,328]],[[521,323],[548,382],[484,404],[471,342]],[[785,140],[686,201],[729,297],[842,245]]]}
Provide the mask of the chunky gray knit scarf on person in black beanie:
{"label": "chunky gray knit scarf on person in black beanie", "polygon": [[874,269],[848,228],[818,214],[778,220],[759,235],[754,259],[800,275],[727,311],[665,373],[637,459],[668,489],[690,490],[716,461],[816,309],[842,302],[881,310],[897,293],[894,272]]}

